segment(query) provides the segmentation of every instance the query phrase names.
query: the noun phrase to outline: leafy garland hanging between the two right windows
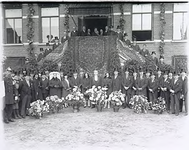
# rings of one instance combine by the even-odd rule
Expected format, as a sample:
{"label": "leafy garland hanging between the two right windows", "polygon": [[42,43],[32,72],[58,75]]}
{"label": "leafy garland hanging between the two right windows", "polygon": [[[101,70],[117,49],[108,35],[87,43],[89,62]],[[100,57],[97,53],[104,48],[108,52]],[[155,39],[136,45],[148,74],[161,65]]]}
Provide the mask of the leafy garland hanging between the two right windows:
{"label": "leafy garland hanging between the two right windows", "polygon": [[159,51],[160,54],[162,55],[164,53],[164,46],[165,46],[165,3],[160,3],[160,26],[161,26],[161,31],[160,31],[160,46],[159,46]]}

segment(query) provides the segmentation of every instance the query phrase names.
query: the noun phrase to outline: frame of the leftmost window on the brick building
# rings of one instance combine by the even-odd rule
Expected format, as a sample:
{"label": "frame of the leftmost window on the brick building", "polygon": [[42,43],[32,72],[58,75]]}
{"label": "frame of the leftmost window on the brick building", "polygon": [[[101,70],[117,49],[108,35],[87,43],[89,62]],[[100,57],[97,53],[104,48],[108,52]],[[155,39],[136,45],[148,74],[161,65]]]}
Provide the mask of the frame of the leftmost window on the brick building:
{"label": "frame of the leftmost window on the brick building", "polygon": [[[20,17],[6,17],[6,10],[7,9],[20,9],[21,10],[21,16]],[[23,39],[22,39],[22,41],[21,41],[21,43],[16,43],[15,42],[15,32],[14,32],[14,38],[13,38],[13,40],[14,40],[14,42],[13,43],[7,43],[7,26],[6,26],[6,21],[8,20],[8,19],[13,19],[13,24],[14,24],[14,31],[15,31],[15,19],[21,19],[21,24],[22,24],[22,27],[21,27],[21,31],[22,31],[22,33],[21,33],[21,37],[23,38],[23,10],[22,10],[22,8],[5,8],[4,9],[4,11],[3,11],[3,13],[4,13],[4,44],[22,44],[23,43]]]}

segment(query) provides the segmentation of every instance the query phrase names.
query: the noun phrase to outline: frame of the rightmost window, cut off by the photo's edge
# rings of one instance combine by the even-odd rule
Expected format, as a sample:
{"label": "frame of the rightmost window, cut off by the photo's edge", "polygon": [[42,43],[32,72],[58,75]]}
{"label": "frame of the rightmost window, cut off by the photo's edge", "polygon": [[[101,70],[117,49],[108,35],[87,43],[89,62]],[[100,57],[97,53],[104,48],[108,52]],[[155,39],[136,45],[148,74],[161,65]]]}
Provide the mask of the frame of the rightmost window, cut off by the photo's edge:
{"label": "frame of the rightmost window, cut off by the photo's edge", "polygon": [[[187,37],[187,39],[174,39],[174,14],[178,14],[178,13],[182,13],[182,14],[187,14],[188,13],[188,11],[187,10],[176,10],[175,11],[175,4],[178,4],[178,3],[173,3],[173,5],[172,5],[172,10],[173,10],[173,13],[172,13],[172,23],[173,23],[173,29],[172,29],[172,41],[187,41],[188,40],[188,37]],[[183,4],[187,4],[187,5],[189,5],[188,3],[183,3]],[[189,21],[189,20],[188,20]],[[188,34],[188,31],[187,31],[187,34]]]}

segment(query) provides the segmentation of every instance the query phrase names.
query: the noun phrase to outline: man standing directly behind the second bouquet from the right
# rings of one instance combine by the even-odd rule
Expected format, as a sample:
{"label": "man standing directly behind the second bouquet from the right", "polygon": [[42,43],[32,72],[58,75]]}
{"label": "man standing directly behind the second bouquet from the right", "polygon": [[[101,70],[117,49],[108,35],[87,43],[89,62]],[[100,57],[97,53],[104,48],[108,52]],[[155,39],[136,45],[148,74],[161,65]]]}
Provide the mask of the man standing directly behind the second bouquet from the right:
{"label": "man standing directly behind the second bouquet from the right", "polygon": [[148,86],[148,81],[144,77],[144,72],[142,67],[139,69],[139,78],[136,81],[137,95],[147,96],[146,88]]}

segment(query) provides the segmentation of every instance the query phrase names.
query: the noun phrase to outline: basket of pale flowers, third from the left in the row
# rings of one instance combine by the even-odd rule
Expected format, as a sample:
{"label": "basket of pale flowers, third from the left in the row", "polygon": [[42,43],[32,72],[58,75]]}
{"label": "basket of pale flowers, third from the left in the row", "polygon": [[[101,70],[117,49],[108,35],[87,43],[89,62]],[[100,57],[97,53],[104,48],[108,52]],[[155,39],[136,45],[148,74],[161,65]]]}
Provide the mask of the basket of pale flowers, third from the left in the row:
{"label": "basket of pale flowers, third from the left in the row", "polygon": [[85,101],[85,98],[80,88],[74,87],[73,91],[66,96],[66,101],[73,107],[73,112],[79,112],[80,105]]}

